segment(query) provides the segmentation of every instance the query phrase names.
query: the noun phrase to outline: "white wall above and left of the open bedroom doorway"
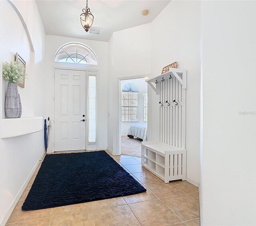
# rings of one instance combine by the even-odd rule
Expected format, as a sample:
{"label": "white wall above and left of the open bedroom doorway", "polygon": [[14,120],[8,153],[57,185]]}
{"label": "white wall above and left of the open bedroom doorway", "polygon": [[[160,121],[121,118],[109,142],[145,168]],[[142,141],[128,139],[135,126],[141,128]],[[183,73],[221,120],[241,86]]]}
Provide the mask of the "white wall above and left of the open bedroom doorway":
{"label": "white wall above and left of the open bedroom doorway", "polygon": [[150,74],[150,24],[112,34],[108,42],[108,149],[117,154],[120,79]]}

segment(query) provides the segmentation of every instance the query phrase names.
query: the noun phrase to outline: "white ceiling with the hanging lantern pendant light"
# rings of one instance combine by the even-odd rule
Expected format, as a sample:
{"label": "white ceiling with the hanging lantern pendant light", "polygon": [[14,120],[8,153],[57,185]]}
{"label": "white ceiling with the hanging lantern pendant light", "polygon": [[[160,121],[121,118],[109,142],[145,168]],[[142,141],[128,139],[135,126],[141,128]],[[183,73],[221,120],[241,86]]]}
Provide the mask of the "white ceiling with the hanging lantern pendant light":
{"label": "white ceiling with the hanging lantern pendant light", "polygon": [[[88,0],[94,15],[92,27],[102,28],[100,35],[88,34],[80,24],[86,0],[37,0],[44,29],[48,35],[108,41],[114,31],[132,28],[154,20],[170,0]],[[149,10],[148,16],[142,16]]]}

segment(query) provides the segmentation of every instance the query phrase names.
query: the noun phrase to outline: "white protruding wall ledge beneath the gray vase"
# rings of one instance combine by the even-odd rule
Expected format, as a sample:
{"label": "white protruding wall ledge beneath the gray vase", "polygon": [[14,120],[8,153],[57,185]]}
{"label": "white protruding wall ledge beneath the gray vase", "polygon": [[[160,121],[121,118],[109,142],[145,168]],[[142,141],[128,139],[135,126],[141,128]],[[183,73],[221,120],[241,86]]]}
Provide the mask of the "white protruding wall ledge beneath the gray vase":
{"label": "white protruding wall ledge beneath the gray vase", "polygon": [[33,134],[42,129],[43,118],[40,116],[1,119],[1,139]]}

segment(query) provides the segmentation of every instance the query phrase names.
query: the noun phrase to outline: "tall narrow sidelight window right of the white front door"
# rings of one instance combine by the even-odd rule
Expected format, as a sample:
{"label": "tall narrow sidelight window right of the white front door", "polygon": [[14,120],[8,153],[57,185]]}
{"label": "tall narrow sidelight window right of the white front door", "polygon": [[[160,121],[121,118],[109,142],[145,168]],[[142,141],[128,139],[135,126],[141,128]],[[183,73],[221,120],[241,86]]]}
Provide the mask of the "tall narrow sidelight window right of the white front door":
{"label": "tall narrow sidelight window right of the white front door", "polygon": [[89,137],[88,142],[96,142],[96,76],[89,76]]}

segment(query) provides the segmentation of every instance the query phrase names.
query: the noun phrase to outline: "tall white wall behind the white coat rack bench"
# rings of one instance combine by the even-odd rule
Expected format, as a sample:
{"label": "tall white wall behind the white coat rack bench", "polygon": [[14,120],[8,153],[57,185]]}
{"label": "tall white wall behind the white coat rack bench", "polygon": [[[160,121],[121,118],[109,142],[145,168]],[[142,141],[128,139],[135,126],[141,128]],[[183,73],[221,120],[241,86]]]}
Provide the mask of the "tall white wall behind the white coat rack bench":
{"label": "tall white wall behind the white coat rack bench", "polygon": [[[200,181],[200,2],[171,1],[151,23],[151,77],[161,74],[165,65],[178,61],[187,69],[186,149],[187,180]],[[149,137],[159,138],[159,96],[149,88]],[[149,124],[149,123],[148,123]]]}

